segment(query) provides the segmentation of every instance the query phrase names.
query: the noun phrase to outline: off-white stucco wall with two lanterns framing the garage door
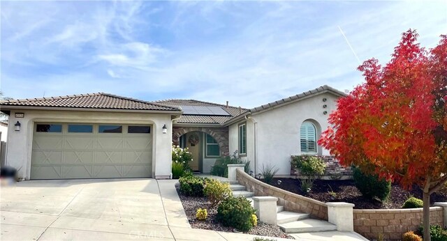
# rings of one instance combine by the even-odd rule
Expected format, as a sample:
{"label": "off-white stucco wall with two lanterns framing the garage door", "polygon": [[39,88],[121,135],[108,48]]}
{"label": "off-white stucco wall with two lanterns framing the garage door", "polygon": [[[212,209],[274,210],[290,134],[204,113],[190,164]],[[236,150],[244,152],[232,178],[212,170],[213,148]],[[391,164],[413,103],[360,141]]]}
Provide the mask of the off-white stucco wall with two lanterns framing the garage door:
{"label": "off-white stucco wall with two lanterns framing the garage door", "polygon": [[[24,118],[15,118],[15,112],[24,113]],[[14,123],[20,121],[20,131],[14,131]],[[171,172],[172,123],[170,114],[122,113],[103,111],[11,111],[8,129],[6,164],[18,170],[19,178],[30,178],[31,151],[35,122],[60,123],[115,123],[151,124],[153,133],[152,177],[169,178]],[[168,133],[163,134],[166,124]]]}

